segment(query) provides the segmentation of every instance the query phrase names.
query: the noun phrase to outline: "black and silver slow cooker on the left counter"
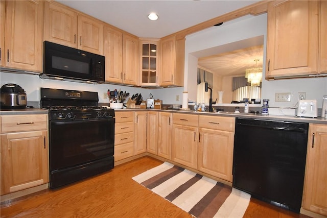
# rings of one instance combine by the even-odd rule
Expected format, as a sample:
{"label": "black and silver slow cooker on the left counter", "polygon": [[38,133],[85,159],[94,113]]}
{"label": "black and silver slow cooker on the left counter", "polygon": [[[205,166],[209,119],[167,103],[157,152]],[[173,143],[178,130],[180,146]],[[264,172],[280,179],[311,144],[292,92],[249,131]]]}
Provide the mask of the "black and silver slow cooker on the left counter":
{"label": "black and silver slow cooker on the left counter", "polygon": [[27,97],[19,85],[8,83],[1,87],[1,109],[25,109]]}

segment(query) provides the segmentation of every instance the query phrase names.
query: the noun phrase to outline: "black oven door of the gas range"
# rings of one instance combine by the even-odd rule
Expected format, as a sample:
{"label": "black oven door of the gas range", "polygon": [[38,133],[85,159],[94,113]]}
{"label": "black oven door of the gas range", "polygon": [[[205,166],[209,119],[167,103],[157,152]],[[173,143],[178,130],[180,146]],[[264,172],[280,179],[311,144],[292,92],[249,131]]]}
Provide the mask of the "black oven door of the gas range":
{"label": "black oven door of the gas range", "polygon": [[113,156],[114,118],[50,120],[50,171]]}

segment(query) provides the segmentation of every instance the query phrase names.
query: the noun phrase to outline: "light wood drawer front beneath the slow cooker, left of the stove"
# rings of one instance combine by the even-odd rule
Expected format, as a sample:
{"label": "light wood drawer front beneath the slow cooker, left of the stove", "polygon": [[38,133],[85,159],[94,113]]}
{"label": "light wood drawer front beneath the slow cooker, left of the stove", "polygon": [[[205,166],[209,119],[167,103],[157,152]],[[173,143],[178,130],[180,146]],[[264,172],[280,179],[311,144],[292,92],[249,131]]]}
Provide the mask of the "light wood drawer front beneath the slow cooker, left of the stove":
{"label": "light wood drawer front beneath the slow cooker, left of the stove", "polygon": [[47,126],[48,114],[1,116],[1,132],[45,130]]}

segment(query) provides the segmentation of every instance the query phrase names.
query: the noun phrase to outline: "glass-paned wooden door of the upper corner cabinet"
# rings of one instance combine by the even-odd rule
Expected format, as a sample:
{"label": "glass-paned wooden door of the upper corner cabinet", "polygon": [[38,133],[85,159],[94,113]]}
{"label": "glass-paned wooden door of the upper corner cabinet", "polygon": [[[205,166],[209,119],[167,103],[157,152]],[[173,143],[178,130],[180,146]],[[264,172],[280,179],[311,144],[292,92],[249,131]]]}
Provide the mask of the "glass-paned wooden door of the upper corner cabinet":
{"label": "glass-paned wooden door of the upper corner cabinet", "polygon": [[142,41],[142,74],[141,85],[157,85],[157,62],[158,45],[157,41]]}

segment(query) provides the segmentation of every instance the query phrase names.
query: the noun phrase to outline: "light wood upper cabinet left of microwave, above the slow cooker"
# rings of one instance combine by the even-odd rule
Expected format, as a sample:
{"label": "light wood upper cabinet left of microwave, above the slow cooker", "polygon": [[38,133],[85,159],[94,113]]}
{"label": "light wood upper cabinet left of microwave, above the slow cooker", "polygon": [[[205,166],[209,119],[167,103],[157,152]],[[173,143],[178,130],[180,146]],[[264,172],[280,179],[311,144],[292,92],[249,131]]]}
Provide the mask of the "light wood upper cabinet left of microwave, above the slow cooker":
{"label": "light wood upper cabinet left of microwave, above the slow cooker", "polygon": [[1,7],[2,66],[42,71],[43,1],[1,1]]}

